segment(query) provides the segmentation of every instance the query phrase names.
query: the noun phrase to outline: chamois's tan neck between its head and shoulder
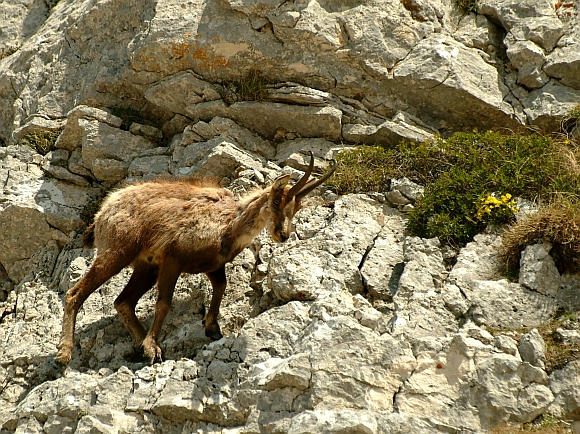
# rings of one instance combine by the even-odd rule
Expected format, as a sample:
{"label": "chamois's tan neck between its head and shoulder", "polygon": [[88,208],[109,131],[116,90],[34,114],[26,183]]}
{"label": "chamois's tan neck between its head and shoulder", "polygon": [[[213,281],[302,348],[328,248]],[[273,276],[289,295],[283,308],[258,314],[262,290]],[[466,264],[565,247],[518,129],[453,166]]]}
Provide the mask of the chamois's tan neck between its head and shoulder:
{"label": "chamois's tan neck between its head and shoulder", "polygon": [[256,238],[266,227],[270,211],[267,209],[270,189],[260,192],[241,201],[238,213],[232,221],[232,233],[235,234],[236,251],[241,251]]}

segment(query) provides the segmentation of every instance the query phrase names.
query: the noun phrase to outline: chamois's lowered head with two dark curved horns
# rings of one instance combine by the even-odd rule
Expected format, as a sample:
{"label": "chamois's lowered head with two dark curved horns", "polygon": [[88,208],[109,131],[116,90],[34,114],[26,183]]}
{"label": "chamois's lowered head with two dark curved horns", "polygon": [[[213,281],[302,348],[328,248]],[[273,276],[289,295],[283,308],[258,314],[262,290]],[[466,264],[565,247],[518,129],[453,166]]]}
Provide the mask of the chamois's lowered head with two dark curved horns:
{"label": "chamois's lowered head with two dark curved horns", "polygon": [[310,174],[314,167],[314,155],[310,152],[310,165],[300,180],[290,187],[288,181],[290,175],[282,175],[274,181],[270,189],[268,208],[271,211],[268,221],[268,230],[272,239],[283,243],[290,237],[293,230],[292,218],[301,208],[301,200],[326,181],[336,170],[336,161],[332,160],[332,168],[320,179],[311,179]]}

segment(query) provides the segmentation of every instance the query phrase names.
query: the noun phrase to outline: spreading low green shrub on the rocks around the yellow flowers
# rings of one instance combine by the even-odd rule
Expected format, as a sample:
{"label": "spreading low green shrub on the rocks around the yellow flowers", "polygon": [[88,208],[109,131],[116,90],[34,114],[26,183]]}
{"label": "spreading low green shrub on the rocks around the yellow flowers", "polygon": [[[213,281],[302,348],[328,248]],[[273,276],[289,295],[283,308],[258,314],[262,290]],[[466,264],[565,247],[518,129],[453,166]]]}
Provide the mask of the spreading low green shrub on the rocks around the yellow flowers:
{"label": "spreading low green shrub on the rocks around the yellow flowers", "polygon": [[[489,224],[508,223],[508,200],[481,215],[488,197],[551,201],[580,191],[573,144],[538,134],[457,133],[449,139],[401,143],[396,149],[362,147],[340,153],[327,183],[335,192],[386,191],[389,179],[406,176],[426,186],[409,213],[407,229],[424,238],[461,246]],[[572,155],[572,157],[571,157]],[[483,198],[483,199],[482,199]]]}

